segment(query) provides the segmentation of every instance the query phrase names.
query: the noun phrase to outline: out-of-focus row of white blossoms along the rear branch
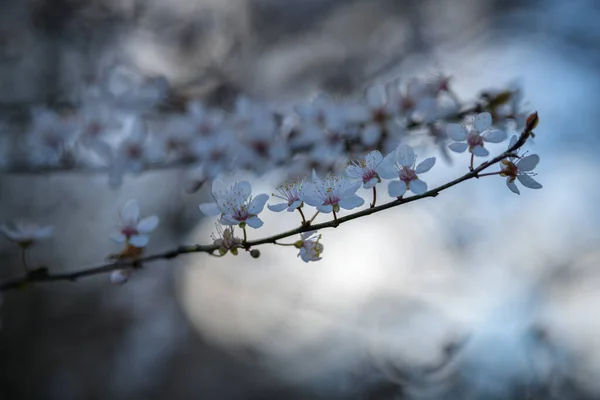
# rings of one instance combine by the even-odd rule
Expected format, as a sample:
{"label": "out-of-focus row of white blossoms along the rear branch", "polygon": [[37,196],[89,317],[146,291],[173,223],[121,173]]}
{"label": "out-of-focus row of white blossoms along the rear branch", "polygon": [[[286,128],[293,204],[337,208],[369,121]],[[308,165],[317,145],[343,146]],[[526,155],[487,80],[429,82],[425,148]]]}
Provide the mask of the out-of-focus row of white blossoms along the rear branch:
{"label": "out-of-focus row of white blossoms along the rear branch", "polygon": [[[516,89],[482,93],[477,106],[497,125],[521,121],[518,94]],[[341,158],[372,149],[391,152],[416,127],[442,147],[455,140],[451,149],[464,151],[468,145],[477,155],[484,153],[480,141],[498,140],[493,134],[467,138],[446,129],[444,121],[463,105],[443,75],[375,85],[362,98],[319,94],[290,108],[240,97],[228,111],[189,100],[173,112],[158,113],[173,101],[171,95],[165,79],[114,68],[82,91],[75,110],[33,108],[27,134],[15,135],[23,151],[2,152],[0,170],[100,169],[117,187],[125,174],[177,166],[188,169],[187,187],[194,190],[240,170],[261,174],[285,167],[294,176],[335,171]],[[475,129],[482,126],[476,123]],[[16,129],[0,124],[0,138]]]}

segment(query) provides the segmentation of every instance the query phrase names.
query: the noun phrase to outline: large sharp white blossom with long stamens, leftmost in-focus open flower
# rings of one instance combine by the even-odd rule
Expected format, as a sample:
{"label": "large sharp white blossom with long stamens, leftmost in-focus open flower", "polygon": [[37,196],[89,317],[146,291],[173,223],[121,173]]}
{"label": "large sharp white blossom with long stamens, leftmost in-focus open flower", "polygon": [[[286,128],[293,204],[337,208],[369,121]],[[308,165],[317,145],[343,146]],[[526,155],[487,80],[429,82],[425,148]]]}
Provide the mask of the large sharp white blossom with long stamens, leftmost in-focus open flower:
{"label": "large sharp white blossom with long stamens, leftmost in-focus open flower", "polygon": [[236,182],[228,187],[219,179],[213,181],[212,195],[214,203],[203,203],[199,205],[200,212],[206,216],[221,214],[222,225],[246,225],[257,229],[263,225],[258,218],[265,207],[269,196],[265,193],[252,198],[252,188],[246,181]]}

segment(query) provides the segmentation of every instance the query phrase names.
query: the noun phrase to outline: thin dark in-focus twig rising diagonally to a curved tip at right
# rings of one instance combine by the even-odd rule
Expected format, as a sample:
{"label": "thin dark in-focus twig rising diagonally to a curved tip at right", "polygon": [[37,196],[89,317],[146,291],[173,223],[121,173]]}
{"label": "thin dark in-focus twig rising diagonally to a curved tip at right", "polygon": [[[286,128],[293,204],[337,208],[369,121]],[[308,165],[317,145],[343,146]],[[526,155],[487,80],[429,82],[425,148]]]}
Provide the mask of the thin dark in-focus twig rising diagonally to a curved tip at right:
{"label": "thin dark in-focus twig rising diagonally to a curved tip at right", "polygon": [[[531,136],[531,134],[532,134],[532,130],[535,127],[535,124],[537,123],[537,114],[532,114],[532,116],[534,116],[534,115],[535,115],[535,118],[530,117],[530,120],[528,120],[528,123],[526,124],[523,132],[521,133],[521,136],[519,137],[518,141],[512,147],[510,147],[504,153],[494,157],[493,159],[482,163],[477,168],[474,168],[473,170],[471,170],[467,174],[461,176],[460,178],[457,178],[457,179],[455,179],[451,182],[448,182],[444,185],[441,185],[434,189],[431,189],[423,194],[414,195],[414,196],[407,197],[407,198],[400,197],[389,203],[382,204],[382,205],[379,205],[379,206],[376,206],[373,208],[367,208],[362,211],[358,211],[358,212],[352,213],[350,215],[347,215],[345,217],[336,218],[332,221],[323,222],[320,224],[311,224],[310,222],[307,222],[306,224],[303,224],[303,225],[299,226],[298,228],[289,230],[287,232],[269,236],[269,237],[266,237],[263,239],[244,241],[244,242],[242,242],[242,247],[244,249],[246,249],[247,251],[250,251],[250,249],[252,247],[260,246],[263,244],[275,244],[277,240],[288,238],[288,237],[298,235],[298,234],[301,234],[304,232],[316,231],[316,230],[326,229],[326,228],[337,228],[339,225],[344,224],[349,221],[352,221],[357,218],[365,217],[367,215],[375,214],[375,213],[381,212],[383,210],[387,210],[389,208],[397,207],[402,204],[411,203],[413,201],[421,200],[421,199],[424,199],[427,197],[436,197],[440,194],[440,192],[442,192],[446,189],[449,189],[453,186],[456,186],[459,183],[462,183],[464,181],[467,181],[467,180],[470,180],[473,178],[479,179],[480,173],[482,171],[486,170],[487,168],[489,168],[493,165],[497,165],[498,162],[500,162],[501,160],[503,160],[507,157],[515,156],[514,152],[516,150],[518,150],[521,146],[523,146],[525,144],[525,142],[527,141],[527,139],[529,138],[529,136]],[[19,287],[26,286],[27,284],[33,283],[33,282],[76,281],[79,278],[98,275],[98,274],[104,274],[104,273],[111,272],[111,271],[118,270],[118,269],[141,268],[143,266],[143,264],[145,264],[145,263],[149,263],[149,262],[153,262],[153,261],[157,261],[157,260],[171,260],[171,259],[176,258],[183,254],[208,253],[208,254],[212,255],[215,252],[217,252],[218,249],[219,249],[219,246],[215,245],[215,244],[179,246],[176,249],[169,250],[169,251],[166,251],[163,253],[157,253],[157,254],[153,254],[153,255],[149,255],[149,256],[145,256],[145,257],[121,259],[116,262],[111,262],[111,263],[102,264],[102,265],[99,265],[96,267],[89,267],[89,268],[84,268],[84,269],[81,269],[78,271],[61,273],[61,274],[52,274],[52,273],[48,272],[48,269],[45,267],[38,268],[38,269],[29,271],[23,277],[16,278],[13,280],[8,280],[3,283],[0,283],[0,291],[16,289]]]}

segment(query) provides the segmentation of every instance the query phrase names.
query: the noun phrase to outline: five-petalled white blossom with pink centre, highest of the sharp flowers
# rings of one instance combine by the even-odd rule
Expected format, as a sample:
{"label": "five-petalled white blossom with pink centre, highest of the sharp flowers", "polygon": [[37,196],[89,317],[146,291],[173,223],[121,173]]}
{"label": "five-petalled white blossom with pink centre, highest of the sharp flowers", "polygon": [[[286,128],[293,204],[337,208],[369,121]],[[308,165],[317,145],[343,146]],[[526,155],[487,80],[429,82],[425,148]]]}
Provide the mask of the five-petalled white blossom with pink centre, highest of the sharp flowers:
{"label": "five-petalled white blossom with pink centre, highest of the sharp flowers", "polygon": [[497,129],[490,129],[492,126],[492,115],[488,112],[477,114],[473,121],[471,131],[467,131],[464,125],[448,124],[448,136],[455,142],[448,148],[457,153],[462,153],[469,149],[469,152],[478,156],[486,157],[490,152],[484,147],[484,143],[500,143],[506,139],[506,133]]}

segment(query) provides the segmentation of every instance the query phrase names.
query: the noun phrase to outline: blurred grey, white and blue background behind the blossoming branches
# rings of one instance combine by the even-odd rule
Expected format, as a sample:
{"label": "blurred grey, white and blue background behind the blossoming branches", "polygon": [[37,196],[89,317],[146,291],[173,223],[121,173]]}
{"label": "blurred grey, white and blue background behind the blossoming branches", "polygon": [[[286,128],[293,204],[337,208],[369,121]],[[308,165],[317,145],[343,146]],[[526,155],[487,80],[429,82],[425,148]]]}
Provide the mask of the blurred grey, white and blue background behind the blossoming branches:
{"label": "blurred grey, white and blue background behind the blossoming branches", "polygon": [[[599,16],[593,0],[0,0],[2,110],[69,100],[115,62],[225,107],[441,70],[461,99],[522,86],[544,185],[516,196],[500,178],[469,181],[323,231],[318,263],[263,247],[259,260],[157,262],[124,286],[8,292],[0,398],[600,398]],[[427,182],[466,172],[466,155],[453,160]],[[118,190],[105,176],[3,174],[0,222],[54,225],[31,262],[69,271],[119,250],[108,235],[130,198],[161,218],[150,252],[209,242],[209,190],[185,193],[180,171]],[[264,220],[257,237],[298,223]],[[2,279],[20,274],[6,240],[0,261]]]}

